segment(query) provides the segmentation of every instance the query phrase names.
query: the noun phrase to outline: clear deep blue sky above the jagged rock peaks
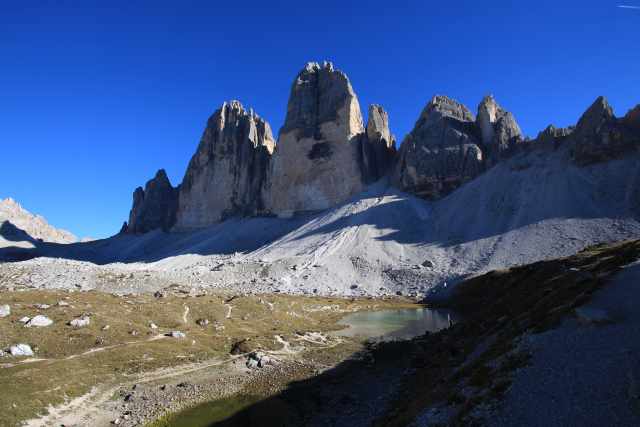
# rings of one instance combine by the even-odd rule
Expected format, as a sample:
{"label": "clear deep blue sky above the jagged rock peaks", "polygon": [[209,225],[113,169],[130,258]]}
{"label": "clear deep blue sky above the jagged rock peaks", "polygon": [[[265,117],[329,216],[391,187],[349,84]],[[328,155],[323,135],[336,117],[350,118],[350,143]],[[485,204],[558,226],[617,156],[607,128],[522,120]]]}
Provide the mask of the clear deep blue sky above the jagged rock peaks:
{"label": "clear deep blue sky above the jagged rock peaks", "polygon": [[0,197],[104,237],[158,168],[182,180],[239,99],[274,132],[310,60],[344,70],[401,139],[435,93],[493,93],[526,134],[602,94],[640,103],[640,0],[1,1]]}

